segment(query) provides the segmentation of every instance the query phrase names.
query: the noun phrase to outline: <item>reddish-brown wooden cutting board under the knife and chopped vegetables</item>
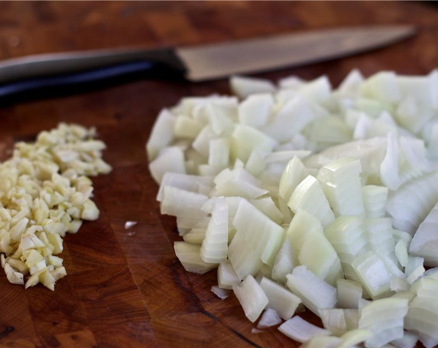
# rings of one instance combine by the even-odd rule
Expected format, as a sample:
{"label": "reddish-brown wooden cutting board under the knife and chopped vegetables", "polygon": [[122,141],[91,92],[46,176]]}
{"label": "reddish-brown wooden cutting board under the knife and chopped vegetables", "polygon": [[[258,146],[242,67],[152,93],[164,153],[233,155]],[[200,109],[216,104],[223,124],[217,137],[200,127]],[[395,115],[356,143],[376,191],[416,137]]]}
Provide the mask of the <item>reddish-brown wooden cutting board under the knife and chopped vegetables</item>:
{"label": "reddish-brown wooden cutting board under the knife and chopped vegetables", "polygon": [[[260,75],[328,74],[354,67],[424,74],[438,65],[438,7],[414,2],[1,2],[0,59],[124,46],[219,42],[310,28],[413,23],[409,41],[360,56]],[[185,95],[229,93],[226,80],[139,81],[104,91],[0,109],[0,160],[18,140],[58,122],[96,126],[114,170],[95,178],[98,221],[68,235],[68,275],[56,291],[9,284],[0,272],[1,347],[297,347],[254,327],[231,295],[211,291],[215,271],[184,271],[173,253],[175,220],[160,216],[144,145],[163,106]],[[124,222],[138,221],[131,230]],[[134,234],[128,232],[135,232]],[[307,320],[318,323],[309,314]]]}

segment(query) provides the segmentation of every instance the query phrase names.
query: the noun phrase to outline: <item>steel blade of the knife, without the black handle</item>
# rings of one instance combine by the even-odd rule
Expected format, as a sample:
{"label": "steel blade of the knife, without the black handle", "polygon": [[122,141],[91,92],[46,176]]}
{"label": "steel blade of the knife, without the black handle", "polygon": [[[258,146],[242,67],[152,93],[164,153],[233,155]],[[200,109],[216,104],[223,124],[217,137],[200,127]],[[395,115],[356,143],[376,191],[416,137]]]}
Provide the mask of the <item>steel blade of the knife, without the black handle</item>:
{"label": "steel blade of the knife, without the black handle", "polygon": [[331,60],[387,46],[415,33],[411,25],[339,28],[176,49],[192,81]]}

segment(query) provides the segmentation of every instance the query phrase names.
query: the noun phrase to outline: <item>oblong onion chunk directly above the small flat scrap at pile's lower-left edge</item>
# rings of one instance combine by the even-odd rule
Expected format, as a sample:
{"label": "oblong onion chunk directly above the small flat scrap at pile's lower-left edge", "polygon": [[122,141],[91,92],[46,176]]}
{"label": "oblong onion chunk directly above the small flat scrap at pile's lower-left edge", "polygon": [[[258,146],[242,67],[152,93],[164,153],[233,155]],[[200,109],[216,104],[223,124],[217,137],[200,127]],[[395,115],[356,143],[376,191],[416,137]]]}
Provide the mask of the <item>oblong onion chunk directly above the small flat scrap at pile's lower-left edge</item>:
{"label": "oblong onion chunk directly above the small flat scrap at pile's lower-left edge", "polygon": [[301,303],[300,298],[265,277],[261,278],[260,286],[268,297],[268,308],[274,309],[281,318],[290,319]]}

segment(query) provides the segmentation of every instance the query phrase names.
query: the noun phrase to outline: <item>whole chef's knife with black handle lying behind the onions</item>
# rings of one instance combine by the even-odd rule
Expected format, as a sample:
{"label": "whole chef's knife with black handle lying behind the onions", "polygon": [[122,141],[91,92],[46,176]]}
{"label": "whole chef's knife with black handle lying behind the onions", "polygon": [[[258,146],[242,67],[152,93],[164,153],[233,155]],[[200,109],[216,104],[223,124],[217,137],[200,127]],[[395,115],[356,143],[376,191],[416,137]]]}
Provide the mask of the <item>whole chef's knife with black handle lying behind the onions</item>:
{"label": "whole chef's knife with black handle lying behind the onions", "polygon": [[349,56],[413,35],[410,25],[319,30],[176,49],[107,49],[0,61],[0,101],[81,92],[138,78],[206,81]]}

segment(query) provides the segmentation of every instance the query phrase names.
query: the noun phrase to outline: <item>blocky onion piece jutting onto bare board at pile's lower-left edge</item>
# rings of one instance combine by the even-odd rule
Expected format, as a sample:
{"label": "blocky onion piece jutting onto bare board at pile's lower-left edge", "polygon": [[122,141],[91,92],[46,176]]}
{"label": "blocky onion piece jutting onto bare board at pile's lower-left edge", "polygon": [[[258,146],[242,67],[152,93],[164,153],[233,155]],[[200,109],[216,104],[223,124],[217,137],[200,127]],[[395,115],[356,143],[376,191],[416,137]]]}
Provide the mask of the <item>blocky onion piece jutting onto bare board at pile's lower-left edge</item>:
{"label": "blocky onion piece jutting onto bare board at pile's lower-left edge", "polygon": [[252,275],[248,275],[239,285],[233,287],[234,294],[244,309],[245,316],[252,323],[268,305],[268,298]]}

